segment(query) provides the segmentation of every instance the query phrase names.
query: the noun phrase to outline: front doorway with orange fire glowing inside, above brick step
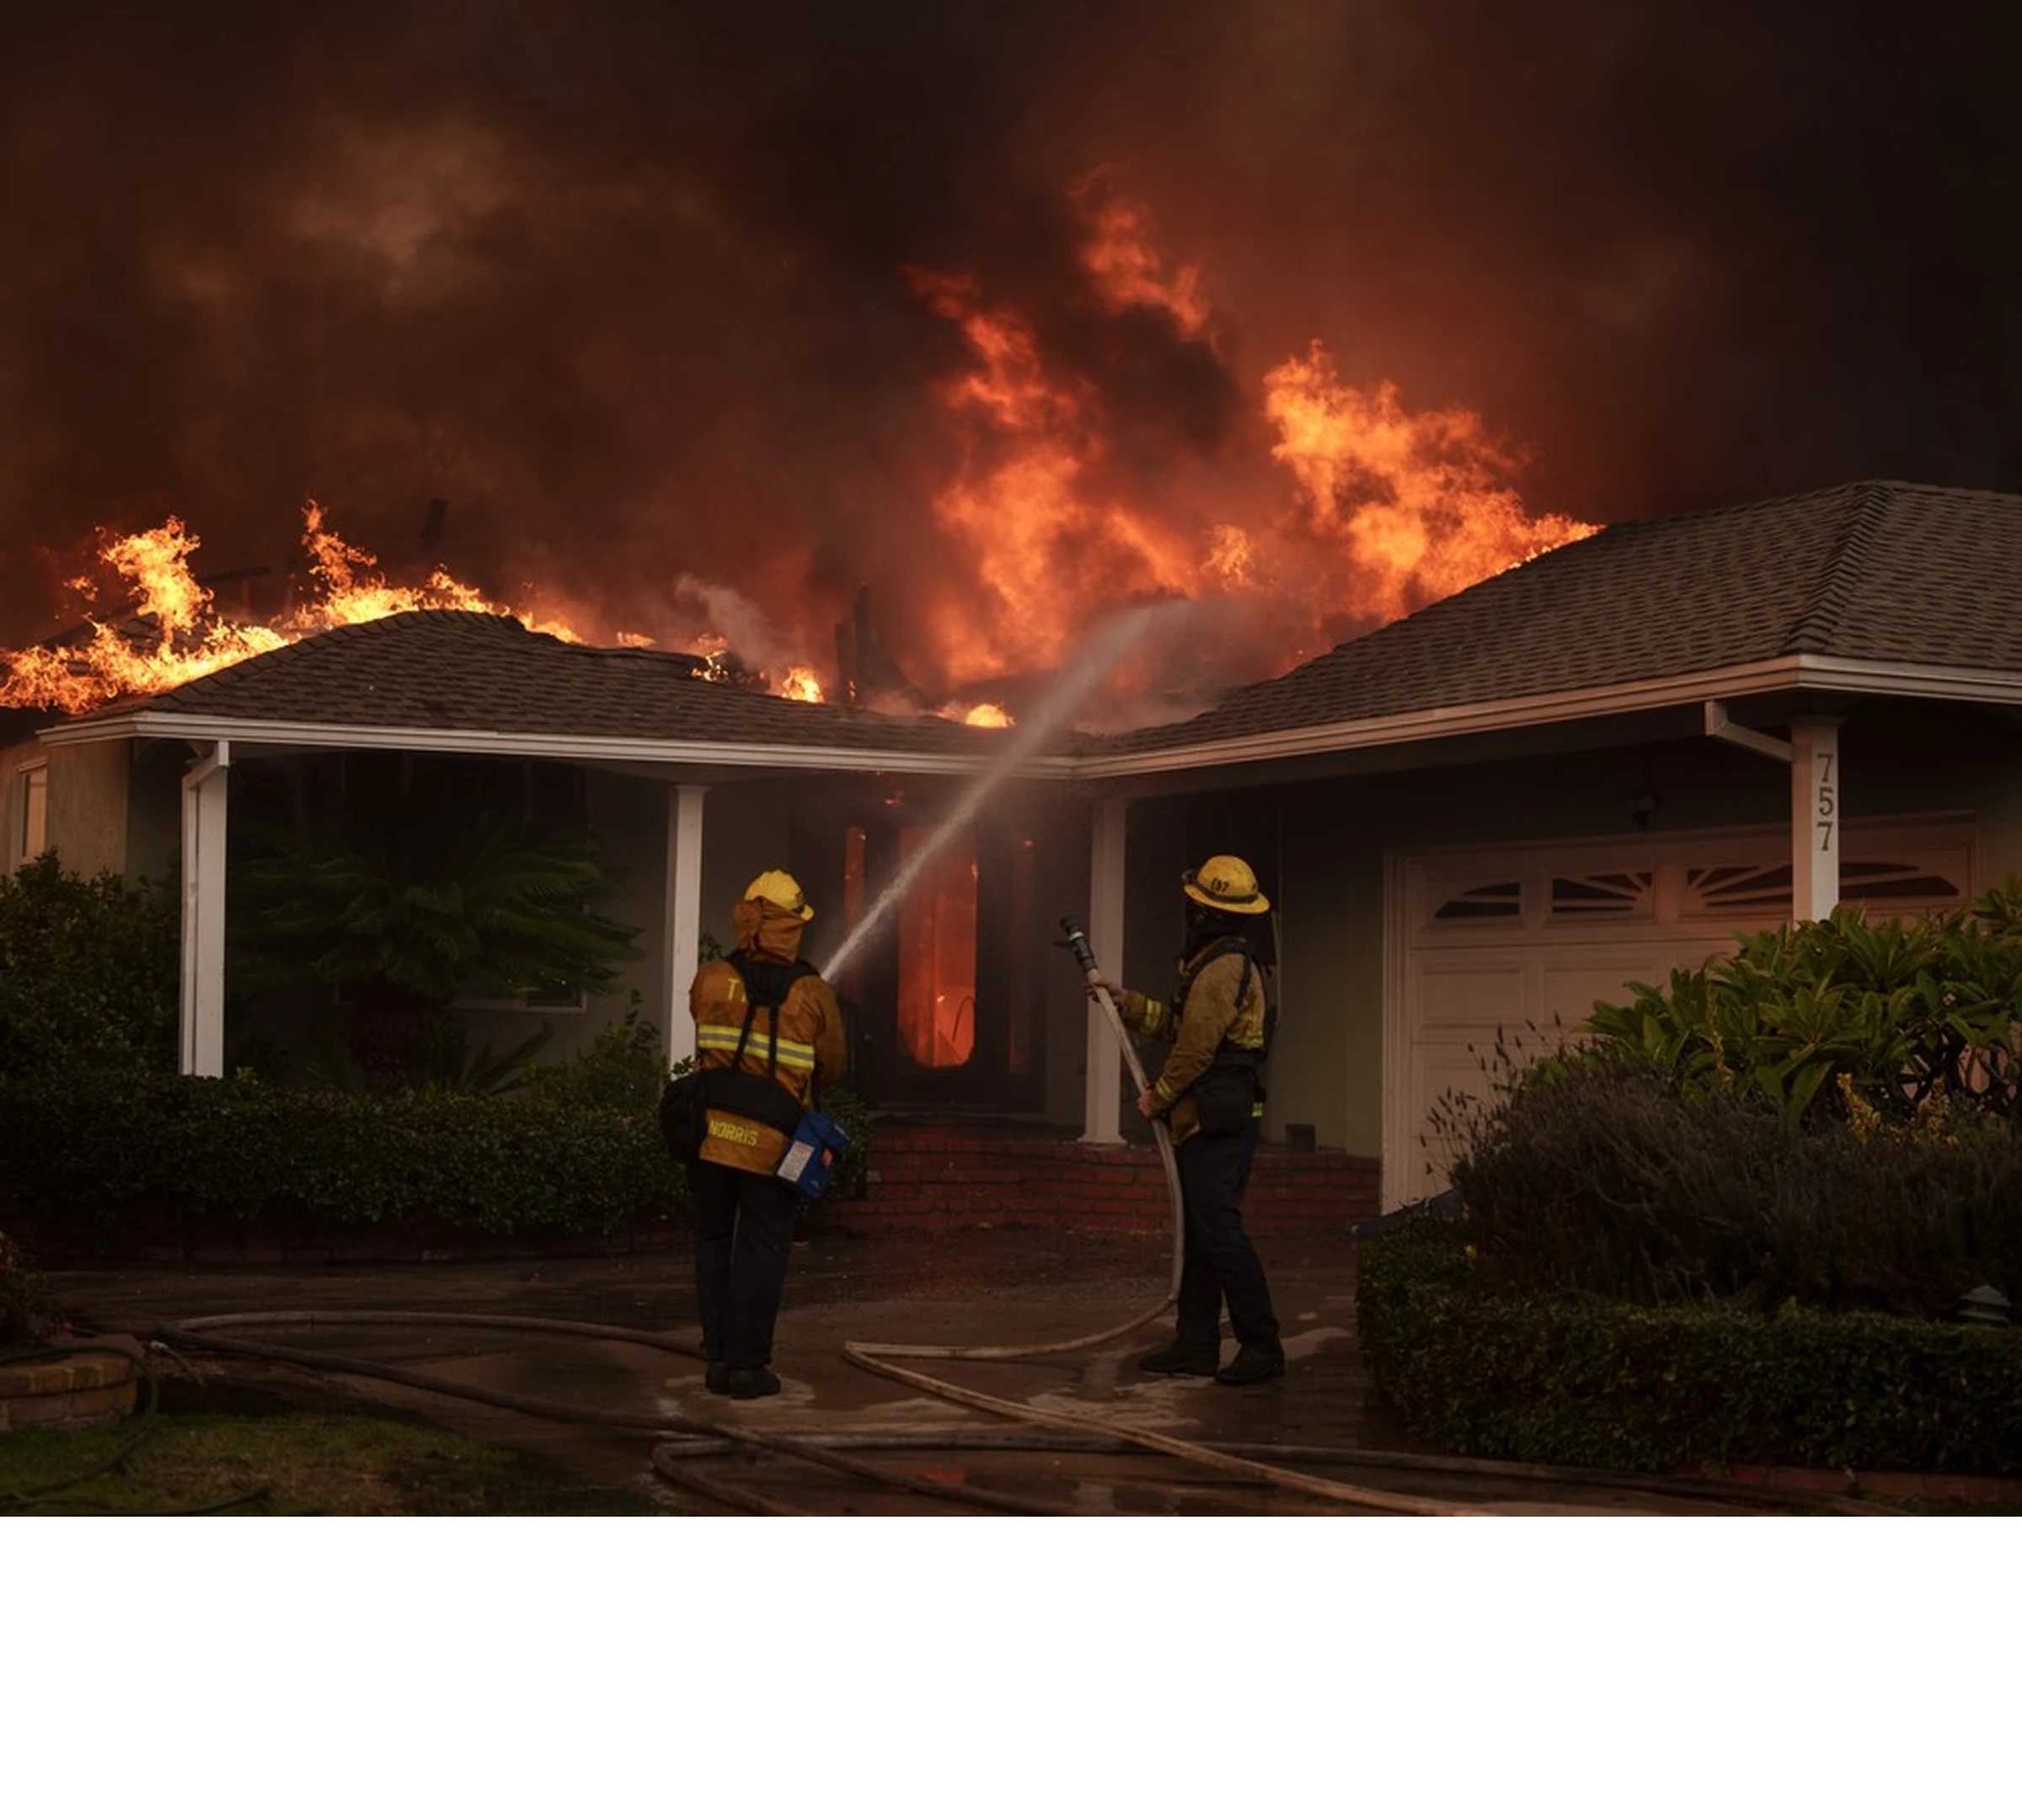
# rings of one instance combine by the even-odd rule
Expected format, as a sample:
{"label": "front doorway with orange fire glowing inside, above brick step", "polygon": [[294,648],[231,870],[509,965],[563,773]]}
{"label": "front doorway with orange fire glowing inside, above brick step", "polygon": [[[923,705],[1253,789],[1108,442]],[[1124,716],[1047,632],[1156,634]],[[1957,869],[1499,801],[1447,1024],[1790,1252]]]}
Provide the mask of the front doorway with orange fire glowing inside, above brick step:
{"label": "front doorway with orange fire glowing inside, above brick step", "polygon": [[[938,803],[892,791],[839,829],[843,932],[940,829]],[[837,831],[829,831],[829,841]],[[863,942],[835,989],[855,1025],[855,1074],[892,1110],[1031,1116],[1043,1100],[1039,835],[983,815],[954,833]]]}

